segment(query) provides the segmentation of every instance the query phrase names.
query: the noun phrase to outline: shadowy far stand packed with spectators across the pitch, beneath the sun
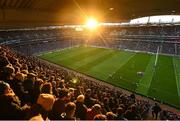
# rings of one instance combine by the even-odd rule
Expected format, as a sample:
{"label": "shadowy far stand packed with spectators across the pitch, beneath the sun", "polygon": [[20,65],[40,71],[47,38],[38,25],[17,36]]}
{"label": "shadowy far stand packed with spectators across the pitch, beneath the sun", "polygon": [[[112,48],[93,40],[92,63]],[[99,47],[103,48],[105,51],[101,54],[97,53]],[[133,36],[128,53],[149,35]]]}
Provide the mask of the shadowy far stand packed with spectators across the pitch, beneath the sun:
{"label": "shadowy far stand packed with spectators across the pitch, beneath the sun", "polygon": [[93,46],[152,53],[156,53],[159,47],[162,54],[179,55],[179,29],[177,25],[112,27],[104,28],[96,36],[93,35],[91,40],[87,39],[90,36],[87,31],[79,32],[74,29],[1,31],[3,36],[0,39],[1,44],[9,45],[28,55],[81,45],[85,42]]}

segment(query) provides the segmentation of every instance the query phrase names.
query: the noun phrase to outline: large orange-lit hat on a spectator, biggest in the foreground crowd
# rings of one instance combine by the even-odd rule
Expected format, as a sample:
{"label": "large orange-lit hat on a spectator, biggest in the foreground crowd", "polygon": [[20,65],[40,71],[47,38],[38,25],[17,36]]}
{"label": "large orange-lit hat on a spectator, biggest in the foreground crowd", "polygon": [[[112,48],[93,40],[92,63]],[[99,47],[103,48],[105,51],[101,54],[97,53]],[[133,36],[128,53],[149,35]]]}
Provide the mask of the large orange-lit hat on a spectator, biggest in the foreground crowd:
{"label": "large orange-lit hat on a spectator, biggest in the foreground crowd", "polygon": [[51,94],[40,94],[37,104],[40,104],[46,111],[50,111],[54,104],[55,98]]}

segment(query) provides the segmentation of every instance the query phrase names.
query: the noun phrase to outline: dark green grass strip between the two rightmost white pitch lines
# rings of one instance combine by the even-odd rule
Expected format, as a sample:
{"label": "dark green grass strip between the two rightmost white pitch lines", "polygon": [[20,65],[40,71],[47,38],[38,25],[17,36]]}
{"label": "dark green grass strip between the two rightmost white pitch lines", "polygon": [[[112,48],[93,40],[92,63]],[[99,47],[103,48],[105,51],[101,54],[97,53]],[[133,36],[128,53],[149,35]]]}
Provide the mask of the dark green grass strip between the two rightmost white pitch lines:
{"label": "dark green grass strip between the two rightmost white pitch lines", "polygon": [[172,57],[159,56],[148,96],[179,107],[174,75]]}

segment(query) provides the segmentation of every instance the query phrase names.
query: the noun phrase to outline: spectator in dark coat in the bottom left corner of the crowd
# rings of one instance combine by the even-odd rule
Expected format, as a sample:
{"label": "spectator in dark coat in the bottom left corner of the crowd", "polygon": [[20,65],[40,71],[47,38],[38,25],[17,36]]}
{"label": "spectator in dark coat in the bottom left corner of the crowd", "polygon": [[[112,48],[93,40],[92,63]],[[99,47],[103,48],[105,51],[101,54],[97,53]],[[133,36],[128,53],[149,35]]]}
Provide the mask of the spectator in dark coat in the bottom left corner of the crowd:
{"label": "spectator in dark coat in the bottom left corner of the crowd", "polygon": [[0,81],[0,119],[1,120],[22,120],[25,118],[29,107],[21,107],[21,101],[15,95],[8,83]]}

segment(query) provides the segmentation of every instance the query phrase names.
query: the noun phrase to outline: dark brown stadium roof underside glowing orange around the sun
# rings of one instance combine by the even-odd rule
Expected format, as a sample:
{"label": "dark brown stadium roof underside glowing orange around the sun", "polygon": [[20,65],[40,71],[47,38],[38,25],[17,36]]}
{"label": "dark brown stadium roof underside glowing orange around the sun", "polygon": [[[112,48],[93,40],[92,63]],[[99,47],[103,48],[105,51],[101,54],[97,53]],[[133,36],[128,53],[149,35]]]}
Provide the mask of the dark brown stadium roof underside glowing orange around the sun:
{"label": "dark brown stadium roof underside glowing orange around the sun", "polygon": [[1,25],[82,23],[87,16],[124,22],[151,15],[179,14],[180,0],[0,0]]}

